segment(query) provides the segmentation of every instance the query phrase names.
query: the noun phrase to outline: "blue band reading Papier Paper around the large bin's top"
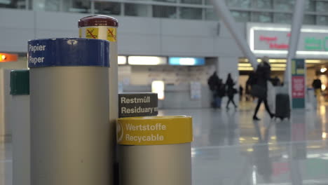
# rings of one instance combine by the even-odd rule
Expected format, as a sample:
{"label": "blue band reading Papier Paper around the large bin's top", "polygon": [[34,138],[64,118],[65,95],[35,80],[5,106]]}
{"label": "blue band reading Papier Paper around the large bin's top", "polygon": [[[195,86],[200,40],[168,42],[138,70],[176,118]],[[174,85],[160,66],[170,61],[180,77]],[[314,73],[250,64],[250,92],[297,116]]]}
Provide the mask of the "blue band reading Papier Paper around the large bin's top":
{"label": "blue band reading Papier Paper around the large bin's top", "polygon": [[29,67],[109,67],[109,41],[100,39],[37,39],[28,41]]}

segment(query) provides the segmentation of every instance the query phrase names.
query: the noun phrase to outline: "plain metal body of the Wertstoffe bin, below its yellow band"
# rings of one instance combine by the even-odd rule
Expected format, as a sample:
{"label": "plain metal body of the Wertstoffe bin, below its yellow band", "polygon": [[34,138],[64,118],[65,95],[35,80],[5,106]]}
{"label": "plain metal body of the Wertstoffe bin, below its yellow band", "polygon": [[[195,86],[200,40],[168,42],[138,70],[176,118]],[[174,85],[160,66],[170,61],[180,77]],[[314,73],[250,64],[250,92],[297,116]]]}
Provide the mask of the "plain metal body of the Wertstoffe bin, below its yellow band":
{"label": "plain metal body of the Wertstoffe bin, below its yellow band", "polygon": [[119,146],[121,185],[191,185],[191,144]]}

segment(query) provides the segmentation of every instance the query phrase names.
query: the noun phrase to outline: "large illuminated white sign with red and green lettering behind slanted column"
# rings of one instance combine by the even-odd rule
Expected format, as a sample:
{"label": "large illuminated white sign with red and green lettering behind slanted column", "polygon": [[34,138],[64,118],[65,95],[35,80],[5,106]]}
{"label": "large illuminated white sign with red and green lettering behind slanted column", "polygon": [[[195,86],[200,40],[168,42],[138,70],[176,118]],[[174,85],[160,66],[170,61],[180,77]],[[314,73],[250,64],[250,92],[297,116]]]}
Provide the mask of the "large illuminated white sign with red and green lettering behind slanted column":
{"label": "large illuminated white sign with red and green lettering behind slanted column", "polygon": [[[287,57],[290,38],[288,25],[247,24],[247,40],[257,56]],[[303,26],[297,57],[328,58],[328,27]]]}

